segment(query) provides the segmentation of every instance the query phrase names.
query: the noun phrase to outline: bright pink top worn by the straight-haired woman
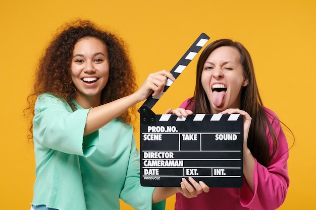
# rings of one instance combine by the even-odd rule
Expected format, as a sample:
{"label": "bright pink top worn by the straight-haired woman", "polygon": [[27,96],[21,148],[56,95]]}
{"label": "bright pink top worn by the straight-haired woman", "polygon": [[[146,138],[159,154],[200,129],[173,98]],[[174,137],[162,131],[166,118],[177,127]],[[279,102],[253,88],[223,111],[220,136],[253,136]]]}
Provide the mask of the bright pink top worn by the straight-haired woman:
{"label": "bright pink top worn by the straight-haired woman", "polygon": [[[188,99],[181,104],[185,108]],[[285,200],[289,186],[287,159],[289,157],[288,144],[282,130],[278,116],[270,109],[263,107],[272,124],[278,139],[278,150],[268,167],[255,161],[254,166],[254,194],[246,180],[241,188],[210,188],[208,193],[199,194],[196,198],[186,198],[181,193],[176,195],[176,210],[227,210],[227,209],[277,209]],[[188,109],[188,108],[187,108]],[[189,109],[192,110],[192,107]],[[268,127],[266,134],[273,150],[272,137]]]}

